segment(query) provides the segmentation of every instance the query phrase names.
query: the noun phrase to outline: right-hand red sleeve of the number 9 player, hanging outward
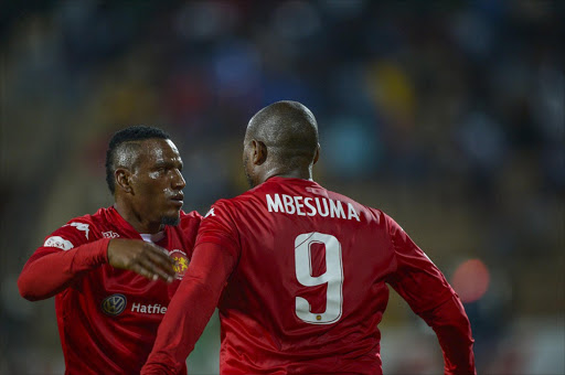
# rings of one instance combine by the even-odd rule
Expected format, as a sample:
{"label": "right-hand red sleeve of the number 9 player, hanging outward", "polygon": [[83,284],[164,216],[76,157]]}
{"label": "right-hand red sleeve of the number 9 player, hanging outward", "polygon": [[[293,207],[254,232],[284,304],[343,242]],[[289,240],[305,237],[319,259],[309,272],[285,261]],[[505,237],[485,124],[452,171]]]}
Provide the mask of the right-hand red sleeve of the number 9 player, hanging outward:
{"label": "right-hand red sleeve of the number 9 player, hanging outward", "polygon": [[459,298],[441,271],[404,229],[385,216],[396,271],[387,282],[436,332],[444,352],[445,374],[476,374],[471,326]]}

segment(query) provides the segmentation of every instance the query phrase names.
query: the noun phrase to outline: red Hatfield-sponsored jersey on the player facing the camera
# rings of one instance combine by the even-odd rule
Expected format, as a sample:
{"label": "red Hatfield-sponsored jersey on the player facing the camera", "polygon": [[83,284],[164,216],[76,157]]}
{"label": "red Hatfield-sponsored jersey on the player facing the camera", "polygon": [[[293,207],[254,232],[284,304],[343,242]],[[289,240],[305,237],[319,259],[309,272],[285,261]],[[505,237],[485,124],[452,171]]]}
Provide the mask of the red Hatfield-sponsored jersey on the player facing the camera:
{"label": "red Hatfield-sponsored jersey on the player facing the camera", "polygon": [[[142,239],[114,207],[74,218],[45,238],[25,264],[19,285],[32,300],[56,293],[65,374],[139,374],[188,268],[201,218],[196,212],[181,211],[180,224],[166,226],[162,238],[154,240],[175,259],[179,277],[171,283],[107,264],[110,238]],[[53,259],[57,265],[53,267],[53,278],[60,278],[57,274],[68,277],[58,288],[62,290],[45,287],[50,282],[45,275],[41,286],[33,285],[39,282],[39,268],[34,265],[54,253],[58,259]],[[185,367],[180,369],[182,373],[186,373]]]}

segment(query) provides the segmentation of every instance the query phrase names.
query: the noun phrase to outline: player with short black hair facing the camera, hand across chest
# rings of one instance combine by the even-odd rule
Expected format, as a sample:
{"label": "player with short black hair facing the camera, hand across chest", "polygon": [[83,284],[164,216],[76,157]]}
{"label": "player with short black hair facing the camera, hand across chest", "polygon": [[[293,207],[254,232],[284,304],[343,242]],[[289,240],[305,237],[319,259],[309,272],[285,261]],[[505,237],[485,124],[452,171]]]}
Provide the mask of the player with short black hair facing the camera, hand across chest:
{"label": "player with short black hair facing the camera, hand across chest", "polygon": [[161,129],[116,132],[106,156],[114,205],[71,219],[23,267],[25,299],[55,296],[65,374],[139,374],[202,219],[181,211],[181,171]]}

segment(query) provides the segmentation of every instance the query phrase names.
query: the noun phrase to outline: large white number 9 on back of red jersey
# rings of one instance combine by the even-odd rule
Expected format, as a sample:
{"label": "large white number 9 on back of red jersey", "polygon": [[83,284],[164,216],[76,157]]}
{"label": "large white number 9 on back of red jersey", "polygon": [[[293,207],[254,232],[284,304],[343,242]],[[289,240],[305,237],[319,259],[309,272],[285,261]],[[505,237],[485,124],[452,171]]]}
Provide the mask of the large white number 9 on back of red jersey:
{"label": "large white number 9 on back of red jersey", "polygon": [[[326,272],[313,277],[310,247],[322,244],[326,248]],[[312,313],[310,303],[302,297],[296,298],[296,315],[310,324],[331,324],[340,320],[343,308],[343,265],[341,244],[332,235],[318,232],[298,235],[295,239],[296,278],[305,287],[328,283],[326,311]]]}

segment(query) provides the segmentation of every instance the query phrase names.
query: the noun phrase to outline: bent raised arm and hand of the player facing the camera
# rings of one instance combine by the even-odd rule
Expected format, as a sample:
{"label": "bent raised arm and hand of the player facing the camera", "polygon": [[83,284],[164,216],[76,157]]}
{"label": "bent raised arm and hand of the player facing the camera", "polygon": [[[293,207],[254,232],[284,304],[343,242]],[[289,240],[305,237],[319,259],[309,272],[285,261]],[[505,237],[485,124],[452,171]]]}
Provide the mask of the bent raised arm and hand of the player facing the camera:
{"label": "bent raised arm and hand of the player facing the camera", "polygon": [[[65,239],[58,237],[57,240]],[[65,290],[85,272],[103,264],[152,279],[159,277],[172,281],[174,277],[173,262],[159,246],[140,239],[102,238],[65,250],[40,247],[23,267],[18,288],[23,298],[42,300]]]}

